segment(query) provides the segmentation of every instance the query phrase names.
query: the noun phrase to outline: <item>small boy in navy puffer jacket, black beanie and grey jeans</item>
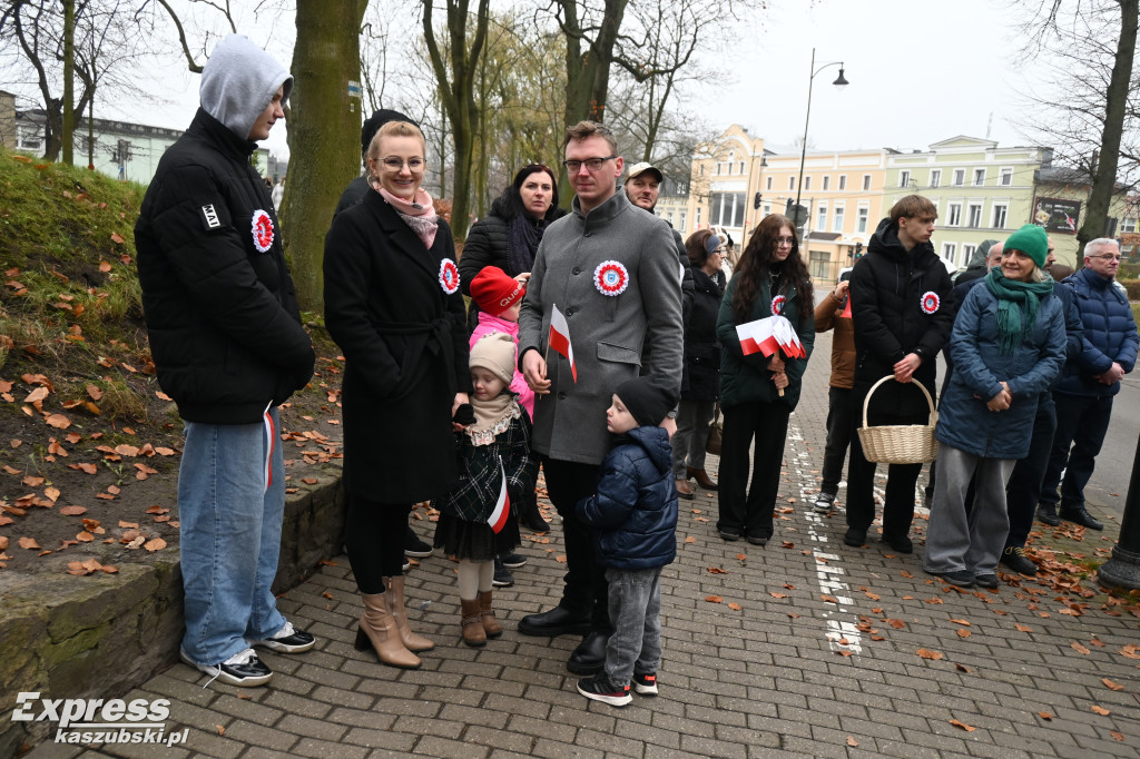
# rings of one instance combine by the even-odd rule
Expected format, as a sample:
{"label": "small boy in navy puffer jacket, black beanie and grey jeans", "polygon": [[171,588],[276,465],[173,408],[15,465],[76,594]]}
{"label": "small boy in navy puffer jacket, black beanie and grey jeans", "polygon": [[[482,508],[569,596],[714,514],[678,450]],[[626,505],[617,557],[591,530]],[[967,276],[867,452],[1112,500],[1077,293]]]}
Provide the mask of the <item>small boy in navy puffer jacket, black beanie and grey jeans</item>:
{"label": "small boy in navy puffer jacket, black beanie and grey jeans", "polygon": [[677,487],[669,433],[661,426],[673,399],[649,377],[622,383],[605,410],[613,447],[602,460],[594,496],[578,501],[605,566],[613,634],[602,672],[578,680],[587,699],[624,707],[657,695],[661,663],[661,568],[677,553]]}

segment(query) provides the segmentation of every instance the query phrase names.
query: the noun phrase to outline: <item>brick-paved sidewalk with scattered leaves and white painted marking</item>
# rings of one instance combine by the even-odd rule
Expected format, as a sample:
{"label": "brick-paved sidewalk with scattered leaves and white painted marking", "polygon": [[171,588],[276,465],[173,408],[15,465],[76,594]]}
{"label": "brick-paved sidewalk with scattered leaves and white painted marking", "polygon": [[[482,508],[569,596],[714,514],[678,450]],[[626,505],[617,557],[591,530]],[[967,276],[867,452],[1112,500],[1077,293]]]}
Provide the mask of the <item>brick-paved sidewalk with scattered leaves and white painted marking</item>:
{"label": "brick-paved sidewalk with scattered leaves and white painted marking", "polygon": [[[625,709],[587,702],[565,670],[577,640],[515,630],[557,602],[555,528],[548,542],[524,537],[528,564],[496,591],[506,631],[483,648],[459,642],[455,564],[433,556],[407,581],[413,626],[437,642],[424,667],[357,653],[360,605],[340,557],[282,599],[319,643],[299,656],[266,654],[276,672],[268,687],[203,688],[206,677],[177,664],[123,696],[169,699],[172,729],[188,728],[182,746],[98,753],[43,743],[30,756],[1135,757],[1140,621],[1106,610],[1091,581],[1089,597],[1059,577],[960,591],[922,572],[920,532],[912,556],[878,541],[848,548],[841,513],[811,513],[829,351],[821,335],[791,421],[772,541],[724,542],[712,495],[682,501],[677,561],[662,580],[659,697]],[[1104,558],[1116,529],[1048,541]],[[1064,561],[1084,571],[1056,554]]]}

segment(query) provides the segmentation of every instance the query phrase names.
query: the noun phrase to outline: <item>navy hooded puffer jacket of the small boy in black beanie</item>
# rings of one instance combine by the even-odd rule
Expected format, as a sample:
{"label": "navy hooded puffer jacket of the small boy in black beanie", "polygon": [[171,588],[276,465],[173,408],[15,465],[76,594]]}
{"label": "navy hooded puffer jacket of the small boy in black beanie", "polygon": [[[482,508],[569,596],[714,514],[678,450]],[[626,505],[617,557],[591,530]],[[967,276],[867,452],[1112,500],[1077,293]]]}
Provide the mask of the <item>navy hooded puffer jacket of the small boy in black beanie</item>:
{"label": "navy hooded puffer jacket of the small boy in black beanie", "polygon": [[596,495],[578,501],[578,519],[595,528],[604,566],[665,566],[677,555],[677,485],[673,448],[661,427],[635,427],[602,459]]}

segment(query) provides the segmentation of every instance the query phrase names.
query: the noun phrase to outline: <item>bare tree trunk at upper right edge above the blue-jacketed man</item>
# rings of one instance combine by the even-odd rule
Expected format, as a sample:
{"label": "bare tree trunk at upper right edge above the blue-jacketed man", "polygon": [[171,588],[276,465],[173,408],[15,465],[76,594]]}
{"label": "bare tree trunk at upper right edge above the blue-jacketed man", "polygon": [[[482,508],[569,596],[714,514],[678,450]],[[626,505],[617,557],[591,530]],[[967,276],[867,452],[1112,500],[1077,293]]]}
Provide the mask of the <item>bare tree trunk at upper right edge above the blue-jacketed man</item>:
{"label": "bare tree trunk at upper right edge above the blue-jacketed man", "polygon": [[1100,160],[1097,162],[1089,194],[1089,207],[1084,223],[1077,230],[1077,266],[1084,261],[1084,246],[1089,240],[1104,237],[1108,221],[1108,206],[1116,187],[1116,170],[1119,165],[1121,139],[1124,132],[1124,116],[1127,109],[1129,83],[1132,81],[1132,63],[1137,50],[1137,24],[1140,23],[1138,3],[1140,0],[1117,0],[1121,6],[1121,38],[1116,42],[1116,59],[1108,82],[1105,101],[1105,130],[1100,138]]}

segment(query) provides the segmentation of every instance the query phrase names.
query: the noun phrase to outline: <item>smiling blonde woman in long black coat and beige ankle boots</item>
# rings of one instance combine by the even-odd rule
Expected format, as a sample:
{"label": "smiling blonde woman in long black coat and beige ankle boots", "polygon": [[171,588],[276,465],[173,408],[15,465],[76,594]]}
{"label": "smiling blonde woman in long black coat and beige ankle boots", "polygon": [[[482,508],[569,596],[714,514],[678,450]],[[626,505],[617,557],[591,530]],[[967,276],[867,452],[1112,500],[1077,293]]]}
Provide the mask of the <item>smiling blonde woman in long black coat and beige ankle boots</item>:
{"label": "smiling blonde woman in long black coat and beige ankle boots", "polygon": [[456,409],[469,401],[467,333],[447,222],[420,185],[423,133],[384,124],[368,146],[372,189],[325,239],[325,323],[345,357],[345,546],[364,601],[357,648],[420,667],[408,628],[404,534],[412,505],[458,480]]}

